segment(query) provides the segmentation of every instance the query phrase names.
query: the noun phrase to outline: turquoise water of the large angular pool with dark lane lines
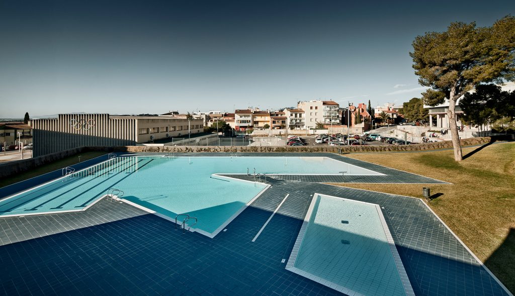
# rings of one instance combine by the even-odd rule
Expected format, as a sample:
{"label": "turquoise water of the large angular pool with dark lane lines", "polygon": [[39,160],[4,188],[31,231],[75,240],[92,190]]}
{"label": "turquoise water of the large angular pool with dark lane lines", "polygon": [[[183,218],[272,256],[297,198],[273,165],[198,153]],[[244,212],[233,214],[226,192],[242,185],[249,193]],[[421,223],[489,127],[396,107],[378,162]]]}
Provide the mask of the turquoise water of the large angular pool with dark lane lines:
{"label": "turquoise water of the large angular pool with dark lane lines", "polygon": [[[107,193],[168,217],[186,213],[212,233],[265,188],[215,173],[381,175],[323,157],[118,157],[0,201],[0,216],[80,211]],[[350,170],[349,170],[350,169]]]}

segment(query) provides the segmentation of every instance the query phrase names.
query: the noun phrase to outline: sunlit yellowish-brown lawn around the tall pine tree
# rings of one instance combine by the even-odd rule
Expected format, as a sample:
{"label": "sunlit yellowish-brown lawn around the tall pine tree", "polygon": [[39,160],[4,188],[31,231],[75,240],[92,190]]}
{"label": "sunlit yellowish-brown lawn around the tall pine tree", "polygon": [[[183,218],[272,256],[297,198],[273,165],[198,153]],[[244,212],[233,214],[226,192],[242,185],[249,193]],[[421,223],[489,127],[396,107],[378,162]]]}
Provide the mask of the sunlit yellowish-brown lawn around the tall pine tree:
{"label": "sunlit yellowish-brown lawn around the tall pine tree", "polygon": [[[515,293],[515,143],[464,148],[475,151],[461,162],[452,150],[420,153],[350,153],[351,158],[453,183],[430,184],[428,202],[467,247]],[[334,184],[412,197],[425,185]]]}

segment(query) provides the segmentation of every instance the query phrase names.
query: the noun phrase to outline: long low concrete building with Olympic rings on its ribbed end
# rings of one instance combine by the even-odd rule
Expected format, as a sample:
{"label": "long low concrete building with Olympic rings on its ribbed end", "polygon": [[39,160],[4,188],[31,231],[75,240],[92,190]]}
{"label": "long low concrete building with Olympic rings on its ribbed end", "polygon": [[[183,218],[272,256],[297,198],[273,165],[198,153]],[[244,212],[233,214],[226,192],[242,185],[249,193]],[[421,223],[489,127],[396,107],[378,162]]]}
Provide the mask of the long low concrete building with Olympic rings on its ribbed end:
{"label": "long low concrete building with Olympic rings on its ribbed end", "polygon": [[33,155],[40,156],[82,146],[130,146],[166,137],[188,136],[204,129],[201,119],[175,116],[110,116],[59,114],[33,119]]}

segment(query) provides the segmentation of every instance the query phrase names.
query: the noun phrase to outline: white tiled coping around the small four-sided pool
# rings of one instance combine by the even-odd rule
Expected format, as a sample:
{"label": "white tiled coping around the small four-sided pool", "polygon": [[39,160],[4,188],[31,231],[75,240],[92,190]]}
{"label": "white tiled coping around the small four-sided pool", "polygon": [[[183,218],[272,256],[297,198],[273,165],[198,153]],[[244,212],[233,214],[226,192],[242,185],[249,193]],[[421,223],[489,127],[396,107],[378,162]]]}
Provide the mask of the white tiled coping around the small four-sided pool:
{"label": "white tiled coping around the small four-sided pool", "polygon": [[386,234],[386,239],[388,241],[388,245],[390,246],[391,254],[393,255],[393,261],[394,261],[394,263],[397,266],[397,270],[399,272],[399,275],[400,275],[400,278],[401,278],[401,282],[402,282],[402,285],[404,287],[404,291],[406,292],[406,295],[414,296],[415,292],[413,291],[413,287],[411,287],[411,284],[409,283],[408,275],[406,273],[406,270],[404,269],[404,266],[402,265],[401,257],[399,256],[399,252],[397,251],[397,248],[395,247],[395,243],[393,241],[393,237],[391,236],[390,230],[388,229],[388,225],[386,224],[386,220],[384,219],[384,216],[383,216],[383,214],[381,212],[381,207],[378,204],[375,204],[375,203],[369,203],[369,202],[358,201],[358,200],[353,200],[353,199],[346,199],[346,198],[330,196],[330,195],[325,195],[325,194],[318,194],[318,193],[313,194],[313,198],[311,200],[310,207],[308,208],[306,216],[304,217],[304,221],[302,222],[302,226],[301,226],[301,229],[299,231],[299,235],[297,236],[297,240],[295,241],[295,245],[293,247],[293,250],[291,251],[291,255],[290,255],[289,259],[288,259],[288,263],[286,264],[286,270],[294,272],[294,273],[297,273],[297,274],[302,275],[304,277],[307,277],[307,278],[309,278],[312,281],[315,281],[317,283],[320,283],[320,284],[322,284],[324,286],[330,287],[332,289],[335,289],[335,290],[337,290],[339,292],[342,292],[342,293],[345,293],[347,295],[350,295],[350,296],[354,296],[354,295],[355,296],[363,296],[363,294],[361,294],[361,293],[358,293],[358,292],[353,291],[353,290],[351,290],[349,288],[346,288],[344,286],[341,286],[341,285],[338,285],[336,283],[330,282],[328,280],[325,280],[324,278],[321,278],[321,277],[316,276],[316,275],[314,275],[312,273],[309,273],[309,272],[306,272],[306,271],[304,271],[302,269],[294,267],[295,260],[297,259],[297,256],[299,255],[299,251],[300,251],[300,247],[301,247],[301,244],[302,244],[302,240],[304,239],[304,236],[306,234],[307,225],[309,224],[309,221],[311,219],[311,215],[313,214],[313,209],[315,207],[317,196],[325,196],[325,197],[337,198],[337,199],[340,199],[340,200],[348,200],[348,201],[353,201],[353,202],[360,202],[360,203],[364,203],[364,204],[370,204],[370,205],[373,205],[375,207],[375,209],[377,211],[377,214],[379,215],[379,218],[381,220],[383,231]]}

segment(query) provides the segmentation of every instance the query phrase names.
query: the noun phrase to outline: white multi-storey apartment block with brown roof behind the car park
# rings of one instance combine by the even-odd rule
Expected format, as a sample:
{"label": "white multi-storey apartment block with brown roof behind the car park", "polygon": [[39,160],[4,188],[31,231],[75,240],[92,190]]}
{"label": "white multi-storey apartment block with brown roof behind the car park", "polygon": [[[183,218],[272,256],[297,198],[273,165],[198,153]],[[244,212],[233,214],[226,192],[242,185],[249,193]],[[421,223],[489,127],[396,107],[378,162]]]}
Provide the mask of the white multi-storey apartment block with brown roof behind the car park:
{"label": "white multi-storey apartment block with brown roof behind the car park", "polygon": [[335,101],[311,100],[298,103],[298,109],[304,110],[305,126],[315,128],[317,123],[339,124],[339,104]]}

